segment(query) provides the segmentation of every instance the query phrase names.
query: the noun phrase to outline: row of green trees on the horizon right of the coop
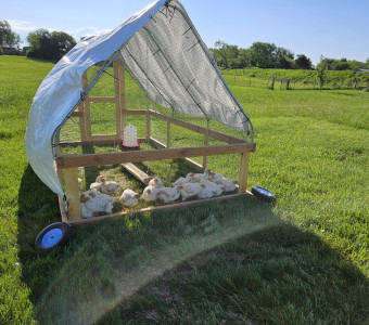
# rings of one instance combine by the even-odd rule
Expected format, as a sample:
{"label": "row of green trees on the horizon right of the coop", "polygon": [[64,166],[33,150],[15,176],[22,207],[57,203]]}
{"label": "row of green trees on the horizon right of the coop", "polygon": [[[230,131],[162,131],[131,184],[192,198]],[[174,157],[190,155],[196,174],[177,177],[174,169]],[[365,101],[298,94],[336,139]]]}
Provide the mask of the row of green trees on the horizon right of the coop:
{"label": "row of green trees on the horizon right of the coop", "polygon": [[[228,44],[225,41],[216,41],[209,49],[217,65],[220,68],[282,68],[282,69],[314,69],[314,65],[305,54],[296,57],[291,50],[277,47],[269,42],[254,42],[250,48],[242,49]],[[369,57],[364,62],[347,58],[321,58],[330,70],[366,69],[369,68]]]}

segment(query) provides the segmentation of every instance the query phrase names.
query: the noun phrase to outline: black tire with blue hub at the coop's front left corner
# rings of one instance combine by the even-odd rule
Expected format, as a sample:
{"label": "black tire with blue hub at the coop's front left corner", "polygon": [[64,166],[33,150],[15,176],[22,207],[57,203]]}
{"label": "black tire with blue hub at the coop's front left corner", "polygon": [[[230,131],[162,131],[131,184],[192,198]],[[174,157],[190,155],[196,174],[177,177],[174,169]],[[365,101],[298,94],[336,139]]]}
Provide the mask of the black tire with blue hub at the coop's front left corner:
{"label": "black tire with blue hub at the coop's front left corner", "polygon": [[48,252],[56,247],[63,247],[71,240],[71,226],[64,222],[55,222],[44,227],[35,240],[35,248]]}

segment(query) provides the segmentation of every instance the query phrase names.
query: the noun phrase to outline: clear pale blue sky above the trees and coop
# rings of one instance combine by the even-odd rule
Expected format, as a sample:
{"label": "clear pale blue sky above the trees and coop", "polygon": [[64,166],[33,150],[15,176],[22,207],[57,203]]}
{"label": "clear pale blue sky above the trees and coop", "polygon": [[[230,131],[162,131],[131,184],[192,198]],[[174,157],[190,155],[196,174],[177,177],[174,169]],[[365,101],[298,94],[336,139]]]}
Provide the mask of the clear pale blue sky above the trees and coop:
{"label": "clear pale blue sky above the trees and coop", "polygon": [[[0,0],[0,21],[27,44],[37,28],[80,37],[112,29],[153,0]],[[366,62],[369,0],[181,0],[207,47],[217,40],[239,48],[270,42],[305,54]]]}

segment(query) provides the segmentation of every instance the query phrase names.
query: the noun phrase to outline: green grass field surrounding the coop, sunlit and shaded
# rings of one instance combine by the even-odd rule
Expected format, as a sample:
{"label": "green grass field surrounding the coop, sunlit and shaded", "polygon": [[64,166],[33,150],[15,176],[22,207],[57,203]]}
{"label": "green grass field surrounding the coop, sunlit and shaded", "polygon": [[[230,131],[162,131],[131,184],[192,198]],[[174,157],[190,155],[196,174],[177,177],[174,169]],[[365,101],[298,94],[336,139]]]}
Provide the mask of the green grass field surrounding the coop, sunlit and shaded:
{"label": "green grass field surrounding the coop, sunlit and shaded", "polygon": [[[76,226],[67,248],[42,255],[34,242],[60,221],[58,200],[23,142],[52,67],[0,56],[0,324],[369,323],[368,92],[226,76],[255,127],[249,184],[272,191],[273,206],[244,198]],[[151,165],[160,177],[186,168]]]}

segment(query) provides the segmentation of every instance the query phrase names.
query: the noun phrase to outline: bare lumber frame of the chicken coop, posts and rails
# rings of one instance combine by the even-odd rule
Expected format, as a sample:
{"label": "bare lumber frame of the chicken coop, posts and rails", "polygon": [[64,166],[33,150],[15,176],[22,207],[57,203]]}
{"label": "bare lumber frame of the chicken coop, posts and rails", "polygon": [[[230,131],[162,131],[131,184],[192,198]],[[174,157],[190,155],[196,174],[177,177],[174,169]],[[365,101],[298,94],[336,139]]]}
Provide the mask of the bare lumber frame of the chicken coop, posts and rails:
{"label": "bare lumber frame of the chicken coop, posts and rails", "polygon": [[[142,115],[145,119],[145,138],[139,139],[139,142],[150,142],[158,150],[151,151],[127,151],[105,154],[84,154],[84,155],[62,155],[61,151],[56,151],[55,169],[61,179],[62,172],[64,172],[64,186],[66,195],[66,206],[60,197],[60,206],[62,220],[68,223],[89,223],[107,218],[117,218],[127,216],[130,213],[143,212],[143,211],[155,211],[163,209],[171,209],[179,207],[188,207],[198,203],[212,202],[216,199],[227,199],[238,197],[242,195],[252,195],[247,191],[247,171],[249,171],[249,159],[250,153],[254,152],[256,144],[247,142],[245,140],[231,136],[208,128],[203,128],[183,120],[179,120],[175,117],[166,116],[162,113],[151,109],[127,109],[125,100],[125,72],[124,67],[118,61],[114,61],[114,88],[115,96],[89,96],[85,102],[78,106],[78,110],[73,113],[73,117],[79,118],[80,125],[80,139],[81,141],[76,142],[64,142],[60,145],[92,145],[92,144],[113,144],[118,143],[123,140],[123,129],[126,126],[127,115]],[[86,86],[87,78],[86,73],[82,78],[82,84]],[[85,83],[86,84],[85,84]],[[114,102],[116,113],[116,133],[115,134],[92,134],[91,133],[91,118],[90,118],[90,103],[91,102]],[[151,136],[151,117],[158,118],[167,122],[166,128],[166,144],[161,143]],[[176,125],[187,130],[200,133],[204,135],[203,146],[193,147],[170,147],[170,126]],[[217,140],[224,144],[208,145],[209,139]],[[225,155],[225,154],[241,154],[240,161],[240,178],[239,178],[239,194],[224,195],[211,199],[202,199],[196,202],[177,203],[161,207],[145,208],[141,210],[133,210],[130,212],[120,212],[114,214],[107,214],[103,217],[96,217],[92,219],[81,219],[79,210],[79,191],[77,181],[77,169],[78,167],[89,166],[102,166],[102,165],[116,165],[122,166],[138,178],[142,183],[148,184],[150,179],[143,171],[139,170],[132,162],[162,160],[162,159],[175,159],[181,158],[190,162],[196,170],[204,170],[207,165],[207,156],[212,155]],[[191,160],[191,157],[203,157],[202,165]]]}

